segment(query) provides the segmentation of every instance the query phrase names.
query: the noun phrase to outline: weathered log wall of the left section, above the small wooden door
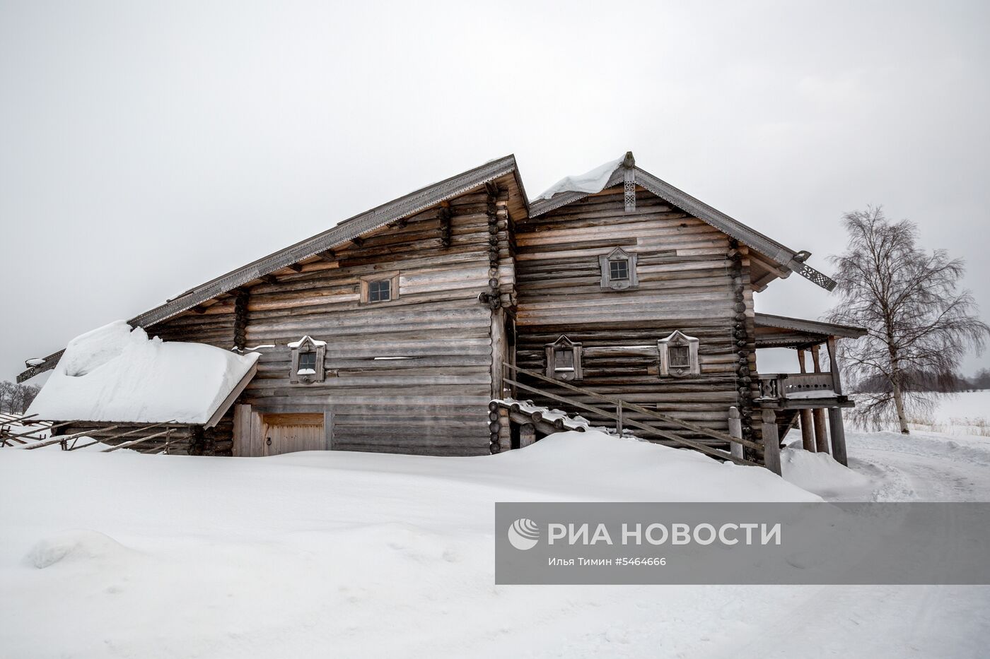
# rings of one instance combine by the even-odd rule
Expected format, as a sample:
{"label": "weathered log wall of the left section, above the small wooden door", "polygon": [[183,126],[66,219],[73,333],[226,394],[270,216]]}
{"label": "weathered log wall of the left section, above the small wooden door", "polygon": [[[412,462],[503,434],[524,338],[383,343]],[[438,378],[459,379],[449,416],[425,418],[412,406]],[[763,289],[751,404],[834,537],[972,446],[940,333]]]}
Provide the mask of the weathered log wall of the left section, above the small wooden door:
{"label": "weathered log wall of the left section, above the small wooden door", "polygon": [[[247,346],[273,343],[238,403],[333,412],[334,449],[487,454],[493,309],[479,294],[501,306],[513,293],[506,200],[482,188],[335,248],[336,261],[276,272],[241,294],[240,324],[229,297],[148,331],[230,348],[243,326]],[[398,299],[362,304],[361,279],[378,273],[398,273]],[[323,382],[289,382],[286,344],[304,334],[327,341]]]}

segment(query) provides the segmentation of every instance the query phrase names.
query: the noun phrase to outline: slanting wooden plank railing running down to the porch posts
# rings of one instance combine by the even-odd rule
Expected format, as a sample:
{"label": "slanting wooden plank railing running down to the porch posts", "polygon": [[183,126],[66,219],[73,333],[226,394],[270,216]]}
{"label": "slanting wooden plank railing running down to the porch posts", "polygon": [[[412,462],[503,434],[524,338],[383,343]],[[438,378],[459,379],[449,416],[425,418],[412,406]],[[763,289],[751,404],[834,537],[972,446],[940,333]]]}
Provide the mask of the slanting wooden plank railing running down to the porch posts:
{"label": "slanting wooden plank railing running down to the porch posts", "polygon": [[[552,378],[548,378],[542,373],[537,373],[536,371],[530,371],[525,368],[520,368],[519,366],[515,366],[512,364],[503,364],[503,365],[505,366],[505,371],[506,371],[505,376],[503,378],[503,382],[505,384],[511,385],[512,387],[517,389],[522,389],[525,392],[537,394],[538,396],[543,396],[550,400],[557,401],[558,403],[562,403],[564,405],[578,408],[579,410],[590,412],[600,417],[610,419],[616,423],[616,430],[619,432],[620,436],[622,435],[624,429],[627,426],[634,427],[640,430],[645,430],[646,432],[649,433],[657,434],[663,437],[664,439],[668,439],[674,442],[675,444],[686,446],[688,448],[693,448],[697,451],[706,453],[720,460],[729,460],[731,462],[735,462],[736,464],[756,466],[756,463],[750,460],[746,460],[742,457],[738,457],[724,450],[714,448],[712,446],[707,446],[692,439],[688,439],[687,437],[683,437],[669,429],[658,427],[655,422],[660,422],[663,424],[670,424],[670,425],[682,427],[687,430],[691,430],[696,434],[701,434],[713,439],[717,439],[719,441],[727,442],[730,445],[735,443],[744,446],[746,448],[751,448],[756,451],[763,450],[763,447],[760,444],[754,441],[743,439],[742,437],[735,437],[727,432],[722,432],[720,430],[713,430],[711,428],[703,427],[698,424],[692,424],[691,422],[686,422],[681,419],[676,419],[674,417],[661,414],[654,410],[647,410],[646,408],[640,405],[636,405],[635,403],[630,403],[629,401],[623,401],[622,399],[612,398],[611,396],[603,396],[602,394],[593,392],[590,389],[585,389],[584,387],[575,387],[572,384],[568,384],[560,380],[553,380]],[[509,371],[512,371],[512,373],[509,373]],[[555,387],[559,387],[572,394],[580,394],[581,396],[586,396],[594,401],[601,401],[602,404],[608,406],[608,409],[603,408],[600,405],[589,405],[588,403],[575,400],[573,396],[571,397],[561,396],[559,394],[548,392],[546,391],[545,388],[536,387],[532,384],[524,384],[522,382],[519,382],[517,374],[522,374],[529,378],[538,380],[540,382],[545,382]],[[510,377],[510,375],[512,375],[513,377]],[[640,421],[638,419],[632,419],[627,414],[629,412],[635,412],[640,416],[644,416],[647,419],[649,419],[651,422],[653,422],[653,424],[649,424]]]}

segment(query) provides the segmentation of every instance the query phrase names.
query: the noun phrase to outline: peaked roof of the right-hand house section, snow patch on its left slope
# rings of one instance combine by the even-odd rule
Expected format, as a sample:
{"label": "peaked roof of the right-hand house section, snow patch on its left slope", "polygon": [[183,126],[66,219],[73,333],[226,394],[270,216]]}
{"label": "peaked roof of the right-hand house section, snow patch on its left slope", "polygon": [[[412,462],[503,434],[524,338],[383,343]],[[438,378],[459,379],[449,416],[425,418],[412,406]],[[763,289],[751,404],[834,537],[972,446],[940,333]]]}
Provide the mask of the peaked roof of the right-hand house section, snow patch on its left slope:
{"label": "peaked roof of the right-hand house section, snow patch on its left slope", "polygon": [[[648,171],[636,165],[636,160],[633,158],[632,151],[629,151],[624,159],[615,160],[608,164],[613,163],[615,163],[615,168],[613,169],[611,176],[606,179],[604,175],[601,175],[597,179],[599,184],[601,181],[604,181],[604,185],[602,185],[602,187],[598,190],[599,192],[623,183],[627,169],[632,169],[637,185],[643,186],[646,190],[649,190],[660,199],[663,199],[677,208],[690,213],[692,216],[708,223],[722,233],[740,240],[750,248],[759,252],[759,254],[761,254],[765,259],[769,260],[769,265],[772,268],[770,274],[773,276],[768,277],[762,286],[757,282],[753,282],[753,285],[756,286],[756,288],[761,290],[762,287],[765,287],[765,283],[768,283],[769,280],[772,280],[775,276],[787,277],[792,271],[796,271],[802,277],[810,279],[828,291],[836,288],[835,281],[805,263],[805,260],[811,256],[811,252],[795,251],[794,249],[777,242],[773,238],[767,235],[762,235],[756,230],[743,225],[743,223],[739,220],[735,220],[722,211],[712,208],[708,204],[692,197],[683,190],[675,188],[666,181],[653,176]],[[600,168],[593,169],[588,173],[591,174],[596,172],[604,174],[604,172],[599,172],[599,169]],[[582,179],[583,177],[573,178]],[[564,183],[566,180],[567,179],[564,179],[560,183]],[[559,183],[554,185],[550,190],[552,191],[557,189],[559,185]],[[565,189],[561,192],[557,192],[556,194],[552,194],[548,199],[545,198],[547,193],[544,193],[538,197],[536,201],[530,204],[530,217],[538,217],[554,209],[560,208],[561,206],[565,206],[566,204],[570,204],[594,194],[594,191],[589,192],[590,188],[591,186],[580,186],[579,189]],[[773,270],[776,270],[776,272]]]}

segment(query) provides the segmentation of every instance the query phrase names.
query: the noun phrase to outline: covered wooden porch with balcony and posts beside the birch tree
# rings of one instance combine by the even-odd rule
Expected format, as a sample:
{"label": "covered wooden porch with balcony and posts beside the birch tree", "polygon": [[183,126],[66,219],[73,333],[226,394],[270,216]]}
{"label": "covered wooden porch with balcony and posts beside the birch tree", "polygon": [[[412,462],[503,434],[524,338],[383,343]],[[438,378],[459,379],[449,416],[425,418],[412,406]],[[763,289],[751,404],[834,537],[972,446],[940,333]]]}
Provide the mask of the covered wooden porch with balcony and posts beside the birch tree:
{"label": "covered wooden porch with balcony and posts beside the birch tree", "polygon": [[[754,401],[763,415],[763,424],[772,424],[774,435],[783,439],[787,431],[800,421],[801,441],[805,450],[832,453],[847,465],[845,429],[842,409],[854,407],[842,393],[842,381],[837,356],[837,341],[856,339],[866,329],[805,319],[755,315],[757,348],[792,348],[797,352],[798,372],[763,373],[759,378],[759,397]],[[826,346],[829,370],[822,370],[821,347]],[[811,353],[811,368],[806,356]],[[826,426],[828,411],[828,428]],[[764,427],[766,437],[771,428]],[[831,435],[831,441],[830,441]]]}

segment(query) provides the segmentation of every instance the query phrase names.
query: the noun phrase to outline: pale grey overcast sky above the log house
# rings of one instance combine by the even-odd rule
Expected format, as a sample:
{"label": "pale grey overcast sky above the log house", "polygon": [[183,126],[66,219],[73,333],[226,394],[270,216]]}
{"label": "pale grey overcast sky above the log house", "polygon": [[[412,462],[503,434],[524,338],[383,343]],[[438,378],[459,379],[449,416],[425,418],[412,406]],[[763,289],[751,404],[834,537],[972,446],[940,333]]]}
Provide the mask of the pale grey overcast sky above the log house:
{"label": "pale grey overcast sky above the log house", "polygon": [[990,3],[688,4],[0,1],[0,379],[512,152],[536,196],[632,149],[825,272],[882,204],[990,320]]}

